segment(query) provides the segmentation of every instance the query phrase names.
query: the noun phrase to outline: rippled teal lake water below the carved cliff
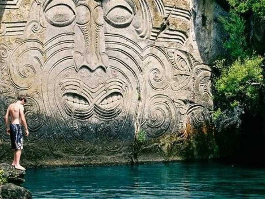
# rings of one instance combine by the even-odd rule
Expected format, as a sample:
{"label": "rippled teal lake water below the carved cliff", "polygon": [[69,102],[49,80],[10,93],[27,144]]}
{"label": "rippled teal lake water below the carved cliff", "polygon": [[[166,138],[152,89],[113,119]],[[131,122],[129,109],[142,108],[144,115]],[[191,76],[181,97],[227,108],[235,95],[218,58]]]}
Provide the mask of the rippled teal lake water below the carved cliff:
{"label": "rippled teal lake water below the carved cliff", "polygon": [[217,163],[27,169],[33,198],[265,198],[265,168]]}

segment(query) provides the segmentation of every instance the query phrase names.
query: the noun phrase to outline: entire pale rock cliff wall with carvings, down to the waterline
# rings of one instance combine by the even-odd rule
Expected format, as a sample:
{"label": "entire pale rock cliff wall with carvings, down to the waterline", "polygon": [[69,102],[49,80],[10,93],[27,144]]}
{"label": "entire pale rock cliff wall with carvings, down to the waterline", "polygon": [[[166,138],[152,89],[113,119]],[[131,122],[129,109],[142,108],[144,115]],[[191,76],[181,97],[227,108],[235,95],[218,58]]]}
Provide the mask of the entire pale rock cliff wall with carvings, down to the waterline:
{"label": "entire pale rock cliff wall with carvings, down to the waterline", "polygon": [[[181,151],[189,129],[209,126],[213,107],[211,68],[203,63],[221,51],[214,16],[222,11],[205,2],[1,3],[0,113],[17,95],[28,97],[22,159],[128,162],[139,152],[139,132],[141,143],[154,146],[147,160],[165,160],[173,145]],[[4,160],[10,139],[0,138]]]}

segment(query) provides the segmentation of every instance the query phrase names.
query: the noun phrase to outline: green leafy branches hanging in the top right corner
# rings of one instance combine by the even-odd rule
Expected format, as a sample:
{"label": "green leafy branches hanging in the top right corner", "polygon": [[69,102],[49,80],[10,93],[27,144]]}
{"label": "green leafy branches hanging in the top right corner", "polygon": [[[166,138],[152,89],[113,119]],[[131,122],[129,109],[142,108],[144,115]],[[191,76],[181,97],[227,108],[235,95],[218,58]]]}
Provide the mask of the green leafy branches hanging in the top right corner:
{"label": "green leafy branches hanging in the top right corner", "polygon": [[232,9],[244,14],[252,11],[257,17],[265,18],[265,0],[227,0]]}

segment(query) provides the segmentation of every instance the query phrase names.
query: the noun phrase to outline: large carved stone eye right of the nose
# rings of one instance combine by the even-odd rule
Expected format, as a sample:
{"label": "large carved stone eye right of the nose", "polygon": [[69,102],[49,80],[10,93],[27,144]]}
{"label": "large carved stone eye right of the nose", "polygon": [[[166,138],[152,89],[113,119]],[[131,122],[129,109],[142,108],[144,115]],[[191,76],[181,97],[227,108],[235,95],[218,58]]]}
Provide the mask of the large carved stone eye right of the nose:
{"label": "large carved stone eye right of the nose", "polygon": [[104,16],[105,21],[115,28],[128,27],[134,17],[132,7],[125,1],[113,1],[113,4],[103,4],[103,9],[106,13]]}

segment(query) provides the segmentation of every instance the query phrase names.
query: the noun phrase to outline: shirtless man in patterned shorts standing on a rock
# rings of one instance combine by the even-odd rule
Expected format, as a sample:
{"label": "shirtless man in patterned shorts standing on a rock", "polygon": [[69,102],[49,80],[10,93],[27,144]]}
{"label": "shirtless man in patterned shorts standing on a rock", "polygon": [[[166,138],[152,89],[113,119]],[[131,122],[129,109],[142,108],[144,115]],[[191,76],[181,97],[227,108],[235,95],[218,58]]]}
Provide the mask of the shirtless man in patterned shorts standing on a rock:
{"label": "shirtless man in patterned shorts standing on a rock", "polygon": [[[11,148],[15,150],[12,166],[19,170],[26,170],[20,165],[21,150],[23,149],[23,136],[21,131],[21,123],[25,127],[26,135],[29,135],[28,126],[24,116],[24,104],[27,99],[24,95],[17,98],[17,102],[9,105],[6,111],[6,133],[10,135]],[[11,123],[9,125],[9,116]]]}

